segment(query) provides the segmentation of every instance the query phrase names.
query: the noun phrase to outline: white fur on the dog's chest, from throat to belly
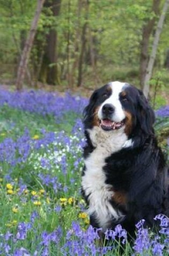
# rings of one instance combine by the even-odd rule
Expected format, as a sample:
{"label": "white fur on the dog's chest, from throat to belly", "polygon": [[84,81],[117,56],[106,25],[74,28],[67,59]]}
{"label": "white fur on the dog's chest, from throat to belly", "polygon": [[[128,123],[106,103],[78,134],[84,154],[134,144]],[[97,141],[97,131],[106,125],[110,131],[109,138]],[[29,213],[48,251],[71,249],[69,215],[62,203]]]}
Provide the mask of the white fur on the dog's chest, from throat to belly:
{"label": "white fur on the dog's chest, from throat to belly", "polygon": [[86,196],[89,196],[89,215],[94,214],[100,227],[105,231],[112,219],[118,220],[124,216],[116,211],[109,203],[114,195],[111,185],[105,183],[106,177],[102,168],[105,158],[119,151],[127,141],[123,130],[104,132],[99,127],[89,131],[93,146],[96,147],[85,159],[85,174],[82,177],[82,187]]}

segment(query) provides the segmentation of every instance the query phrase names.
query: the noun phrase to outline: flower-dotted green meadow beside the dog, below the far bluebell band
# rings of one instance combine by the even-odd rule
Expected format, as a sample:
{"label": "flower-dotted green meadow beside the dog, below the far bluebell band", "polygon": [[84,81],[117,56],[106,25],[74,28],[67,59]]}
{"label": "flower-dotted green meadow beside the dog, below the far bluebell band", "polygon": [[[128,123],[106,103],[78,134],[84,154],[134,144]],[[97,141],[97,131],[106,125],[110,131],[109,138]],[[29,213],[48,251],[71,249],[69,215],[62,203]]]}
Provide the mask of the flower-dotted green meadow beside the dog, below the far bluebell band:
{"label": "flower-dotted green meadow beside the dog, below the far bluebell band", "polygon": [[[0,115],[0,254],[119,255],[119,240],[111,251],[98,252],[89,230],[80,195],[79,114],[69,111],[58,121],[4,105]],[[137,255],[152,255],[152,248]],[[125,250],[123,255],[134,252],[128,243]]]}

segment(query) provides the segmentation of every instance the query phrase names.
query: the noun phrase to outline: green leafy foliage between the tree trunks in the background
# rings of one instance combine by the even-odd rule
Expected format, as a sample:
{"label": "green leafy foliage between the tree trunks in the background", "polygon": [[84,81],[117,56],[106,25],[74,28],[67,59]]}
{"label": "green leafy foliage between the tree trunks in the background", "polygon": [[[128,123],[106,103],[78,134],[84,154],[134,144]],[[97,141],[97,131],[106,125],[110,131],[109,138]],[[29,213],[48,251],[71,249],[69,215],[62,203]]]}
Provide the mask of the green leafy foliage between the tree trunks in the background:
{"label": "green leafy foliage between the tree trunks in the background", "polygon": [[[78,10],[79,2],[81,2],[80,11]],[[82,47],[82,30],[85,22],[87,22],[87,43],[85,60],[83,61],[83,78],[85,82],[87,84],[90,84],[91,80],[95,82],[95,73],[95,76],[97,76],[99,80],[108,81],[111,80],[112,77],[117,77],[119,80],[130,80],[130,77],[132,77],[133,79],[131,80],[137,85],[139,80],[138,70],[143,25],[155,16],[155,13],[152,12],[152,1],[137,0],[133,3],[131,0],[118,0],[113,2],[111,0],[91,0],[89,2],[89,12],[87,16],[86,1],[70,1],[71,5],[69,11],[68,1],[62,0],[61,11],[58,16],[53,16],[51,8],[43,8],[29,64],[32,79],[37,79],[36,74],[39,72],[38,69],[41,68],[41,58],[45,47],[46,34],[53,29],[57,31],[58,59],[57,63],[50,63],[49,67],[57,66],[58,81],[61,80],[61,83],[65,84],[68,73],[67,52],[69,32],[69,67],[76,81],[78,75],[78,58]],[[160,8],[163,2],[164,1],[161,1]],[[12,80],[12,78],[16,78],[17,65],[21,52],[21,41],[26,39],[27,33],[30,30],[35,6],[35,0],[2,0],[0,3],[0,63],[2,63],[0,68],[2,82],[6,81],[6,79]],[[166,51],[169,48],[168,23],[169,15],[166,16],[158,46],[157,70],[162,70]],[[8,29],[6,29],[6,27],[8,27]],[[24,37],[21,36],[23,31]],[[93,40],[92,49],[95,58],[95,72],[93,72],[91,65],[91,36]],[[150,41],[152,41],[152,38]],[[13,66],[12,72],[9,65]],[[88,68],[88,66],[91,68]],[[104,68],[100,68],[100,66],[104,66]],[[109,71],[109,66],[113,66],[113,70],[119,69],[119,74],[112,75],[112,72]],[[131,73],[135,73],[136,71],[138,75],[127,73],[124,77],[123,73],[126,72],[123,71],[123,68],[124,70],[128,68],[131,70]],[[45,82],[46,74],[41,73],[41,81],[44,80]],[[86,81],[86,76],[89,77],[90,80]],[[165,73],[165,77],[160,80],[165,80],[165,84],[167,84],[167,72]],[[160,89],[163,88],[160,87]]]}

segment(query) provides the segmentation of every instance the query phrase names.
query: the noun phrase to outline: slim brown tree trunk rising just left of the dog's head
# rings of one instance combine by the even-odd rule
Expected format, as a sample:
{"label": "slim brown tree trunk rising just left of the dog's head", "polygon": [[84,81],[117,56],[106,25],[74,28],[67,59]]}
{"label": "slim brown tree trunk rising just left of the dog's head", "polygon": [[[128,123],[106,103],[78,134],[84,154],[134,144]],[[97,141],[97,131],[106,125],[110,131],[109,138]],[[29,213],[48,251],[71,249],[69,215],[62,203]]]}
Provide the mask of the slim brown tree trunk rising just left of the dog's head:
{"label": "slim brown tree trunk rising just left of the dog's head", "polygon": [[85,45],[86,45],[86,30],[87,30],[87,24],[88,24],[88,15],[89,15],[89,0],[86,0],[86,11],[85,11],[86,22],[83,25],[83,29],[82,29],[82,47],[81,47],[79,63],[78,63],[77,87],[80,87],[82,85],[82,66],[83,66],[83,57],[84,57],[84,51],[85,51]]}

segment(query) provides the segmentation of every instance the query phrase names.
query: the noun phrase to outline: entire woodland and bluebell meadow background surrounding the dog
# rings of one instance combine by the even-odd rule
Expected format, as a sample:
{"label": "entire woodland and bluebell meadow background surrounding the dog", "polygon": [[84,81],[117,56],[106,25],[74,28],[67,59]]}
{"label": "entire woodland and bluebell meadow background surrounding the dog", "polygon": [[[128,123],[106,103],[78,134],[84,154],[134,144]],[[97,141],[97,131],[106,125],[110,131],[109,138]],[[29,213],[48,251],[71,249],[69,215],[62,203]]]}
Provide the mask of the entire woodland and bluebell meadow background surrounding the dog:
{"label": "entire woodland and bluebell meadow background surrounding the dog", "polygon": [[132,244],[117,225],[102,246],[80,192],[88,96],[143,88],[156,46],[146,85],[169,161],[169,0],[0,0],[1,255],[168,256],[166,216],[159,232],[137,223]]}

